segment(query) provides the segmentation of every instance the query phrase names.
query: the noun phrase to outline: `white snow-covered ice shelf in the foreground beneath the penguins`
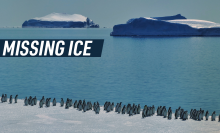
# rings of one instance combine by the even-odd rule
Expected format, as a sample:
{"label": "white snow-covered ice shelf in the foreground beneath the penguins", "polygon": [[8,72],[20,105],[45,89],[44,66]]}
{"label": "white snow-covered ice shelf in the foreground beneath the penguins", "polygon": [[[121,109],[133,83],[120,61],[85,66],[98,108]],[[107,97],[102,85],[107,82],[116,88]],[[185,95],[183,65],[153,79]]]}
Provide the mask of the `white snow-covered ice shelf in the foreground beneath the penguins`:
{"label": "white snow-covered ice shelf in the foreground beneath the penguins", "polygon": [[[39,101],[38,101],[39,102]],[[141,114],[128,116],[128,114],[117,114],[112,111],[106,113],[101,107],[100,114],[94,111],[82,112],[70,107],[64,109],[57,106],[39,108],[35,106],[24,106],[24,100],[18,103],[0,103],[0,132],[113,132],[113,133],[219,133],[220,122],[216,121],[194,121],[192,119],[182,121],[163,118],[162,116],[151,116],[144,119]],[[174,109],[173,109],[174,110]]]}

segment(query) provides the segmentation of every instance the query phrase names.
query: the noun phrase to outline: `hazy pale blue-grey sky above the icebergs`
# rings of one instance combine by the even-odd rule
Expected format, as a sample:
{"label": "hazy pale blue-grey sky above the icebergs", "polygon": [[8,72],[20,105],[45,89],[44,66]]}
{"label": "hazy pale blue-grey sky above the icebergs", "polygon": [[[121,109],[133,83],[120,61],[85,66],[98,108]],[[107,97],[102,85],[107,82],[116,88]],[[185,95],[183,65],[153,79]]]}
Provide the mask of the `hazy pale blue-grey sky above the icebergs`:
{"label": "hazy pale blue-grey sky above the icebergs", "polygon": [[220,23],[220,0],[2,0],[0,27],[21,26],[25,20],[53,12],[81,14],[101,27],[130,18],[181,14],[189,19]]}

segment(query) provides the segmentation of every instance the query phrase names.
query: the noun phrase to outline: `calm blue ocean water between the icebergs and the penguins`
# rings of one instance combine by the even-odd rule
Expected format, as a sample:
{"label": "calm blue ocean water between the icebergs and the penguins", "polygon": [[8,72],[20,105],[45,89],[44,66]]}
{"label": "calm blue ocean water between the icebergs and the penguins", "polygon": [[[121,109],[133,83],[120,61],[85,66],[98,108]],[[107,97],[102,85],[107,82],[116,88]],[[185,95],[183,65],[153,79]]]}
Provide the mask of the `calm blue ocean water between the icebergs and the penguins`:
{"label": "calm blue ocean water between the icebergs and the penguins", "polygon": [[0,29],[0,39],[104,39],[102,57],[0,58],[0,93],[220,113],[220,37],[113,37],[112,29]]}

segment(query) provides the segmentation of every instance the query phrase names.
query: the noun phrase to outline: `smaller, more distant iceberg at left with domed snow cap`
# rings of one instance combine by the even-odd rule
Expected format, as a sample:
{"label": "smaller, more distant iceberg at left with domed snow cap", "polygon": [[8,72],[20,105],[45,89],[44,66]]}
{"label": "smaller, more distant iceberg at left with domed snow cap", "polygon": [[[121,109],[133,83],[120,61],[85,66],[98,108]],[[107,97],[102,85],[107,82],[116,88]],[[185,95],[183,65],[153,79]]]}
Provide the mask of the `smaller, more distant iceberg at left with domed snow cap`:
{"label": "smaller, more distant iceberg at left with domed snow cap", "polygon": [[99,28],[91,19],[80,14],[51,13],[25,21],[22,28]]}

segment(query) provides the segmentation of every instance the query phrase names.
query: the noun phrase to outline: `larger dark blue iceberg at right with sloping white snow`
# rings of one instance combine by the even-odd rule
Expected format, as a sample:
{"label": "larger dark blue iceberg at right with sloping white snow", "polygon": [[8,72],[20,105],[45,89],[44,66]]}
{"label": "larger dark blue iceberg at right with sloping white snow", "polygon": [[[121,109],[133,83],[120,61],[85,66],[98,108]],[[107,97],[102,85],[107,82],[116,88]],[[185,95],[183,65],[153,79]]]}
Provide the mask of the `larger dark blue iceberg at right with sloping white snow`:
{"label": "larger dark blue iceberg at right with sloping white snow", "polygon": [[220,24],[186,19],[180,14],[129,19],[113,27],[111,36],[220,36]]}

